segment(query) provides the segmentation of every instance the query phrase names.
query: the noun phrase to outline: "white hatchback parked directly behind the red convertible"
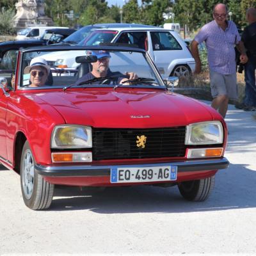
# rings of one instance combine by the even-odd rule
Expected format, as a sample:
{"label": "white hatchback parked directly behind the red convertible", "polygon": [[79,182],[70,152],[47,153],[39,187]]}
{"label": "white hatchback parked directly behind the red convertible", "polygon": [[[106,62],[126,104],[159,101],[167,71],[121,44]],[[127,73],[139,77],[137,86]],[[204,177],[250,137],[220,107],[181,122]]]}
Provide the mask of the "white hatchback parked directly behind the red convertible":
{"label": "white hatchback parked directly behind the red convertible", "polygon": [[[175,31],[156,27],[136,28],[108,28],[92,31],[78,45],[99,45],[99,44],[126,44],[137,45],[139,48],[148,51],[152,60],[163,76],[185,76],[188,77],[195,70],[195,60],[191,56],[188,46]],[[52,67],[63,67],[76,69],[77,63],[74,56],[62,54],[48,54],[45,56]]]}

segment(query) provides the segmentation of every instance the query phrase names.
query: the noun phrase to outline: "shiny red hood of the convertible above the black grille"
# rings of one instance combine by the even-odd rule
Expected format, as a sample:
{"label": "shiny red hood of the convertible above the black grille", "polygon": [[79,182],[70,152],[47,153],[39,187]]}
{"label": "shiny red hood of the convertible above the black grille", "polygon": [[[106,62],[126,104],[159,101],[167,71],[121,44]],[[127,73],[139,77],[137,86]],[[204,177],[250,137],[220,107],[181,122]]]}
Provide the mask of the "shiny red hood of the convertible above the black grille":
{"label": "shiny red hood of the convertible above the black grille", "polygon": [[84,88],[37,96],[55,108],[67,124],[153,128],[220,119],[206,104],[163,90]]}

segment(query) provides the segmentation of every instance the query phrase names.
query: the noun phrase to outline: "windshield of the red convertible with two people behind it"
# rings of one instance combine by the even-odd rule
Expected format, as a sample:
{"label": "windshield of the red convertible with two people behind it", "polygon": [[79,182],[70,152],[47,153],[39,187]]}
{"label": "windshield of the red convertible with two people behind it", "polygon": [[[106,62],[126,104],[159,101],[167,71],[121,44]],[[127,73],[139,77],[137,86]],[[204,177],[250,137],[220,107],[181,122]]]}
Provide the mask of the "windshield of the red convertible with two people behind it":
{"label": "windshield of the red convertible with two people behind it", "polygon": [[[57,50],[22,54],[20,88],[163,86],[161,77],[144,52],[114,51],[113,48],[111,51],[101,48]],[[66,65],[59,65],[58,61],[51,61],[54,54],[71,58]]]}

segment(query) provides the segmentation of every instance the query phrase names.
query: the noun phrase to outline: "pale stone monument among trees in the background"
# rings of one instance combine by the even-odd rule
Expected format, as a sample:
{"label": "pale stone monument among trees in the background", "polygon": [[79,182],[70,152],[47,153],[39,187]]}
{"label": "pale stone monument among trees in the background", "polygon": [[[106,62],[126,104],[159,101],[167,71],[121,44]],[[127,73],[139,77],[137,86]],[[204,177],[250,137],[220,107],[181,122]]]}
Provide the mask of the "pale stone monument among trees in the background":
{"label": "pale stone monument among trees in the background", "polygon": [[44,0],[19,0],[15,4],[17,13],[14,17],[16,29],[28,26],[52,26],[52,19],[44,13]]}

